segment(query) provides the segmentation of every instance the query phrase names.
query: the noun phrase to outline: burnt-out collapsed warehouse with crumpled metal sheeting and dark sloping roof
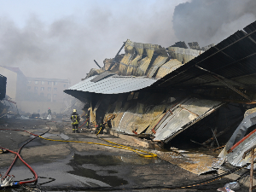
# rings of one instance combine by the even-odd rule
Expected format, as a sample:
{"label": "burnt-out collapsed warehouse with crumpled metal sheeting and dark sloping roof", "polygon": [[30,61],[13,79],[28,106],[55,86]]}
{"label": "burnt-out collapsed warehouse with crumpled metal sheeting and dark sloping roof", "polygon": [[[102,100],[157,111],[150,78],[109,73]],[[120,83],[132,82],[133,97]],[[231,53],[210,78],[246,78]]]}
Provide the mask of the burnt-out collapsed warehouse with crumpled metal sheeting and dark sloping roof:
{"label": "burnt-out collapsed warehouse with crumpled metal sheeting and dark sloping roof", "polygon": [[65,92],[90,108],[93,125],[104,119],[112,131],[168,148],[175,143],[183,148],[188,140],[217,148],[234,141],[243,114],[255,108],[255,32],[253,22],[215,46],[194,42],[190,49],[184,42],[165,49],[128,39],[125,54],[106,59],[104,67],[91,69]]}

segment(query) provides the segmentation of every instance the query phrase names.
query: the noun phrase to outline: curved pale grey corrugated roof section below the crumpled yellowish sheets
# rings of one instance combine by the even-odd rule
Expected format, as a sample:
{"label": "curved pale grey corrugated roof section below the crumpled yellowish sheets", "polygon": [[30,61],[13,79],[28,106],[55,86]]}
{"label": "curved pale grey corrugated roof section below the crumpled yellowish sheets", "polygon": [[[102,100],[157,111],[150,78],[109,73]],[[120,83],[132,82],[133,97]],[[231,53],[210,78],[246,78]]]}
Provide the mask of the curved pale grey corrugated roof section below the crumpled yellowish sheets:
{"label": "curved pale grey corrugated roof section below the crumpled yellowish sheets", "polygon": [[119,94],[141,90],[154,84],[157,79],[146,77],[129,77],[113,75],[97,82],[91,82],[96,76],[84,79],[79,84],[74,84],[68,90],[81,90],[84,92],[102,93],[102,94]]}

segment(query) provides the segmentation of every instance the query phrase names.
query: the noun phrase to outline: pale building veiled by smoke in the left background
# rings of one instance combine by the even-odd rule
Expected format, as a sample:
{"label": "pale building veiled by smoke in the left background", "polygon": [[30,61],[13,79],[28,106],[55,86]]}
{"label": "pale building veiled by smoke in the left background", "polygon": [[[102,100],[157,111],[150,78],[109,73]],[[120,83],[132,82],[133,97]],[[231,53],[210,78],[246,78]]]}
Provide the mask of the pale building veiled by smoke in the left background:
{"label": "pale building veiled by smoke in the left background", "polygon": [[20,113],[61,113],[70,105],[71,96],[63,90],[69,87],[68,79],[27,78],[19,67],[0,67],[6,77],[6,95],[16,102]]}

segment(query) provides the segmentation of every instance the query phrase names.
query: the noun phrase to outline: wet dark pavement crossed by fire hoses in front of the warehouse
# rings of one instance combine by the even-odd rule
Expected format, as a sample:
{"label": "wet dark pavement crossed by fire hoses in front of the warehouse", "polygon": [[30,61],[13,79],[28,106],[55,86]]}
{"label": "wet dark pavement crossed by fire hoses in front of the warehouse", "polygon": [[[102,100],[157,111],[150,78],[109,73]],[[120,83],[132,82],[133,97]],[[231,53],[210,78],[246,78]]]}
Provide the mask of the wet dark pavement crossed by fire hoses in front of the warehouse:
{"label": "wet dark pavement crossed by fire hoses in front of the warehouse", "polygon": [[[61,120],[55,123],[42,119],[0,120],[0,129],[21,129],[34,134],[42,134],[48,131],[49,127],[50,131],[43,137],[108,144],[97,138],[94,132],[83,131],[73,134],[70,123]],[[20,146],[32,137],[24,131],[0,130],[0,147],[18,151]],[[127,143],[119,137],[106,134],[101,137],[114,143],[139,148],[139,146]],[[38,173],[38,187],[30,186],[33,191],[37,191],[35,188],[43,191],[83,191],[85,188],[94,187],[102,187],[102,189],[112,187],[116,188],[115,191],[163,191],[168,185],[199,181],[216,174],[212,172],[197,176],[159,158],[143,158],[129,150],[88,143],[53,142],[42,138],[36,138],[26,144],[20,154]],[[15,154],[0,154],[2,175],[8,170],[14,158]],[[33,177],[32,172],[20,160],[17,160],[10,175],[15,175],[15,181],[29,180]],[[204,189],[172,189],[172,191],[216,191],[228,182],[231,181],[223,178],[217,183],[202,186]],[[150,189],[155,186],[162,189]],[[27,191],[24,188],[0,190]],[[247,188],[241,187],[236,191],[247,190]],[[92,189],[87,191],[92,191]],[[113,191],[113,189],[108,191]]]}

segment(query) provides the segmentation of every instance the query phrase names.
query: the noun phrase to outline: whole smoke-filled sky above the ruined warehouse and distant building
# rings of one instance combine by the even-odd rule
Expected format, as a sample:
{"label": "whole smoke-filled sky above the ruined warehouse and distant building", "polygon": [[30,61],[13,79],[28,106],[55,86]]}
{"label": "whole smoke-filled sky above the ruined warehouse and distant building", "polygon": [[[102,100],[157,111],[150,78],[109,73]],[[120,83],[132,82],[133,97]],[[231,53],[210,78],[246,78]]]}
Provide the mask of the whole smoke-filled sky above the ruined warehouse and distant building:
{"label": "whole smoke-filled sky above the ruined warehouse and distant building", "polygon": [[93,60],[103,66],[127,38],[163,47],[180,40],[218,44],[255,20],[253,6],[253,0],[0,0],[0,66],[76,84],[96,68]]}

